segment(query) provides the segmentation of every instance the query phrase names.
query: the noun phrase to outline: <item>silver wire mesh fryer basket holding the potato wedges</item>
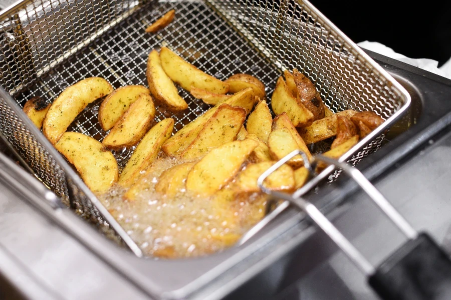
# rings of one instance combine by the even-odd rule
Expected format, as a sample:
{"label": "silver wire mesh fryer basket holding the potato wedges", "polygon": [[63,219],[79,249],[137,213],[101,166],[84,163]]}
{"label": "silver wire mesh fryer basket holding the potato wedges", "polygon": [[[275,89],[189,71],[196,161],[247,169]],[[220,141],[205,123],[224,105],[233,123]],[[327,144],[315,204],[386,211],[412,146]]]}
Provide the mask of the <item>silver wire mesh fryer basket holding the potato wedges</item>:
{"label": "silver wire mesh fryer basket holding the potato wedges", "polygon": [[[144,29],[164,12],[176,17],[164,29]],[[315,83],[334,112],[373,110],[386,121],[343,156],[353,162],[377,149],[387,128],[409,105],[407,92],[309,2],[280,0],[24,0],[0,13],[2,133],[24,161],[68,205],[96,224],[109,226],[139,255],[139,248],[21,107],[33,96],[52,102],[66,87],[91,76],[115,88],[147,85],[148,53],[167,46],[207,73],[225,79],[249,73],[266,86],[294,67]],[[179,88],[188,109],[157,107],[156,120],[172,117],[175,130],[208,109]],[[100,100],[68,128],[101,140]],[[113,152],[123,167],[131,150]]]}

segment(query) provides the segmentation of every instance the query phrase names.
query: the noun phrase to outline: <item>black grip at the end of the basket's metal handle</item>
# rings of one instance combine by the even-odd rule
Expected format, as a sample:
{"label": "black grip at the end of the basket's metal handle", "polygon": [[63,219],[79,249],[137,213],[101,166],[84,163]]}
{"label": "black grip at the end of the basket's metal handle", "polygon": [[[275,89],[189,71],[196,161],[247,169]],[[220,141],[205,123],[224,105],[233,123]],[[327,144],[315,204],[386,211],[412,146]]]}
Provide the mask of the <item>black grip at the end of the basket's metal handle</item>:
{"label": "black grip at the end of the basket's metal handle", "polygon": [[421,233],[391,254],[368,283],[384,300],[451,300],[451,260]]}

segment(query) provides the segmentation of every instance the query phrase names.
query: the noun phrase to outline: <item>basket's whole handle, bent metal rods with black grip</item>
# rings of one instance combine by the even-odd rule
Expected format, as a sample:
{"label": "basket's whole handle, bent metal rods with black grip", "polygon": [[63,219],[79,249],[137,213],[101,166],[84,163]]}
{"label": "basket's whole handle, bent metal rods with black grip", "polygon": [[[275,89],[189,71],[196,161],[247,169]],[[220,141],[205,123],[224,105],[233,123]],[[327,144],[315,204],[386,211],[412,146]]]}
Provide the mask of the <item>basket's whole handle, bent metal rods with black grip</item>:
{"label": "basket's whole handle, bent metal rods with black grip", "polygon": [[[259,177],[259,187],[272,197],[285,199],[305,211],[367,276],[370,286],[381,298],[386,300],[451,299],[451,260],[448,255],[430,236],[425,233],[418,234],[357,168],[322,155],[315,155],[312,160],[313,165],[318,161],[323,161],[340,167],[358,183],[393,224],[407,236],[408,241],[377,268],[373,267],[315,205],[302,197],[293,197],[293,195],[272,191],[263,186],[266,177],[297,154],[304,154],[303,158],[307,161],[305,153],[302,151],[291,152]],[[311,169],[310,163],[307,162],[306,167]]]}

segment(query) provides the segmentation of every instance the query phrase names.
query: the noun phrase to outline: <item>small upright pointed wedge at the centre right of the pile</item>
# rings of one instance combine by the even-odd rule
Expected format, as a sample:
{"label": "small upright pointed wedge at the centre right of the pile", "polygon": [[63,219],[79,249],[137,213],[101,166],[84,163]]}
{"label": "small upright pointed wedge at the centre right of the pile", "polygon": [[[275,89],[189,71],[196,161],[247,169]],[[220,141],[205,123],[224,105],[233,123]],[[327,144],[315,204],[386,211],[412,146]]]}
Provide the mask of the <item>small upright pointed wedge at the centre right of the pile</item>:
{"label": "small upright pointed wedge at the centre right of the pile", "polygon": [[268,104],[266,104],[266,101],[260,101],[249,115],[246,129],[249,133],[255,133],[261,140],[267,142],[272,124],[273,117]]}

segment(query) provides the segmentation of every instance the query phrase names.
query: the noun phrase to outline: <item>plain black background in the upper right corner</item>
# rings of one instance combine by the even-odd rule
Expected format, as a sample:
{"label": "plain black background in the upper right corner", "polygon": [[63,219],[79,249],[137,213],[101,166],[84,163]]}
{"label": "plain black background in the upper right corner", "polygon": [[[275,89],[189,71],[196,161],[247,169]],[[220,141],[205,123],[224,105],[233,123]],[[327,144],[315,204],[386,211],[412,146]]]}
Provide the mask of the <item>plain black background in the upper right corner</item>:
{"label": "plain black background in the upper right corner", "polygon": [[378,41],[439,65],[451,57],[451,0],[311,0],[353,41]]}

